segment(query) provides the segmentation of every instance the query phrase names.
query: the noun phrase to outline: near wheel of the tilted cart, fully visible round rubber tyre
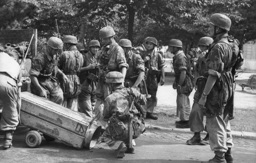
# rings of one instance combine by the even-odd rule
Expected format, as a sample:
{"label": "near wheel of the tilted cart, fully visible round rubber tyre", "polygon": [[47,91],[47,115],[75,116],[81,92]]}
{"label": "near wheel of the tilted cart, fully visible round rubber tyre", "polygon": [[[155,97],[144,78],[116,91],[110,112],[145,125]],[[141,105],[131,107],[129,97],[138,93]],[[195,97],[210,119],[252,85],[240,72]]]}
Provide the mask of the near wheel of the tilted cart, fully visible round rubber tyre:
{"label": "near wheel of the tilted cart, fully visible round rubber tyre", "polygon": [[41,144],[42,137],[38,131],[28,131],[26,134],[25,142],[28,147],[36,148]]}

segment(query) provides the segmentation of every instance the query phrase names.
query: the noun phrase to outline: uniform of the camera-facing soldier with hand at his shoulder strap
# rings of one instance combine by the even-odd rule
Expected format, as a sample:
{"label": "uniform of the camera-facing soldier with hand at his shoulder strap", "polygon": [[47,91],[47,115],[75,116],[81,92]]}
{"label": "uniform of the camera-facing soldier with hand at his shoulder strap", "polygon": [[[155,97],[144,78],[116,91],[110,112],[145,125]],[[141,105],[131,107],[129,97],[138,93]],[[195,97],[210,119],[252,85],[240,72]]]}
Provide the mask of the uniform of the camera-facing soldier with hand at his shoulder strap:
{"label": "uniform of the camera-facing soldier with hand at his shoulder strap", "polygon": [[[156,69],[161,69],[164,66],[164,62],[160,53],[155,52],[150,54],[149,50],[141,52],[141,58],[144,59],[145,57],[149,57],[149,61],[145,63],[145,69],[149,71],[150,67],[155,67]],[[143,107],[147,110],[148,113],[153,113],[154,107],[157,104],[157,97],[156,92],[158,88],[157,76],[152,75],[149,72],[146,72],[146,87],[148,94],[151,95],[149,99],[147,99],[147,104]],[[145,90],[143,90],[145,91]],[[143,92],[144,93],[144,92]]]}

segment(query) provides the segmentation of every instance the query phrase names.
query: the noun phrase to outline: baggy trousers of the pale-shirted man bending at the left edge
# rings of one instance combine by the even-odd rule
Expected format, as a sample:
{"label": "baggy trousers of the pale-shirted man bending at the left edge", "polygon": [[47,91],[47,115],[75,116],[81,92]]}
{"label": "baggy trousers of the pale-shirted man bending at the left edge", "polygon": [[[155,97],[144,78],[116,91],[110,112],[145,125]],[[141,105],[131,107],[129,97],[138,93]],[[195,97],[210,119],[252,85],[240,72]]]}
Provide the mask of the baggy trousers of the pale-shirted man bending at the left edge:
{"label": "baggy trousers of the pale-shirted man bending at the left edge", "polygon": [[0,121],[0,130],[14,131],[19,124],[19,115],[17,110],[17,92],[16,82],[11,77],[0,74],[0,99],[3,110]]}

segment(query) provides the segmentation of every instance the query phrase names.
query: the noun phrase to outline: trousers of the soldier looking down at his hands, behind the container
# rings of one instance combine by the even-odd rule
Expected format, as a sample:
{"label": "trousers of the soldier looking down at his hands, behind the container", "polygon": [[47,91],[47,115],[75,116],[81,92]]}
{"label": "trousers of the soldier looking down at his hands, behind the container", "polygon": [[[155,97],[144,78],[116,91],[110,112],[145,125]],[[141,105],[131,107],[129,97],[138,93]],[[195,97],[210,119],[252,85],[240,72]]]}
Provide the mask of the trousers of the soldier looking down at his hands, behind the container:
{"label": "trousers of the soldier looking down at his hands, behind the container", "polygon": [[89,117],[93,117],[95,103],[95,94],[82,91],[78,97],[79,112],[84,113]]}

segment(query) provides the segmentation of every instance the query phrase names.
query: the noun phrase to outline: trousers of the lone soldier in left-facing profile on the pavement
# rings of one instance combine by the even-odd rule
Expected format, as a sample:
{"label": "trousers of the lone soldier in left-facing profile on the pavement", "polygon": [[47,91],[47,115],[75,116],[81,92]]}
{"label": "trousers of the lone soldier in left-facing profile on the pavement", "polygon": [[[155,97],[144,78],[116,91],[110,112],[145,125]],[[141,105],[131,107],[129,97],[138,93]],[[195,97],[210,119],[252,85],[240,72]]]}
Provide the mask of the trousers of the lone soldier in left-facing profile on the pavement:
{"label": "trousers of the lone soldier in left-facing profile on the pavement", "polygon": [[180,120],[188,121],[191,112],[189,97],[185,94],[177,94],[177,110],[180,112]]}

